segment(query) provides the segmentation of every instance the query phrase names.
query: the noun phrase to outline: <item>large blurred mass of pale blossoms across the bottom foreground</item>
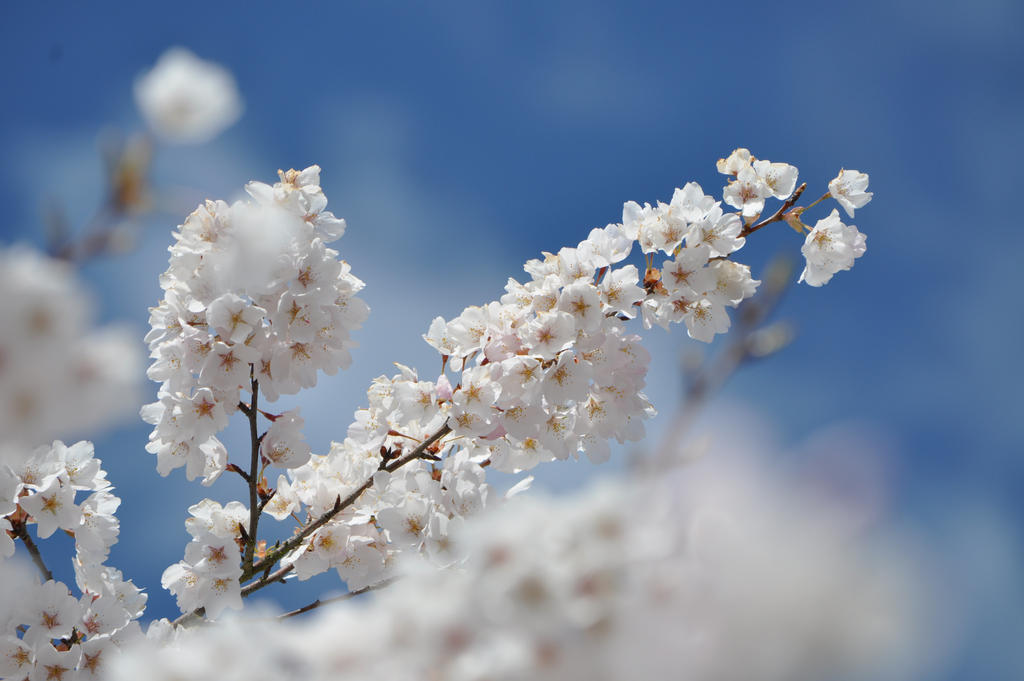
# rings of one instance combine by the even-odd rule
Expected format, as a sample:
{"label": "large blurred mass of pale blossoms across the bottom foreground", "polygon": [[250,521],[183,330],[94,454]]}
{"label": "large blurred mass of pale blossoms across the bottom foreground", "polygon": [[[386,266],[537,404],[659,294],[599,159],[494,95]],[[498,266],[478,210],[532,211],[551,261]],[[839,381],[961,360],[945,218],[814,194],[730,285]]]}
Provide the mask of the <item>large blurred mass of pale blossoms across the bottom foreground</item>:
{"label": "large blurred mass of pale blossoms across the bottom foreground", "polygon": [[447,545],[460,568],[407,562],[387,589],[308,621],[155,623],[112,678],[913,674],[923,601],[905,554],[761,471],[693,472],[516,496]]}

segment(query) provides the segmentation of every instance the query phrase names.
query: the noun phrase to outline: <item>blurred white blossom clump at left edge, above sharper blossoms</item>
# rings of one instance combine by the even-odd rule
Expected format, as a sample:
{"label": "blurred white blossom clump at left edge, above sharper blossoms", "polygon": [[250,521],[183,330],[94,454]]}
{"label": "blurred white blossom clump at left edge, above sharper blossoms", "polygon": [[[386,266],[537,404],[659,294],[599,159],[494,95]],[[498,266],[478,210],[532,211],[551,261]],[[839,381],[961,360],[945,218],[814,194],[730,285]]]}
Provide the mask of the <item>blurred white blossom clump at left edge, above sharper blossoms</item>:
{"label": "blurred white blossom clump at left edge, above sharper blossoms", "polygon": [[42,442],[97,429],[138,402],[142,356],[123,329],[91,329],[70,265],[0,249],[0,463]]}

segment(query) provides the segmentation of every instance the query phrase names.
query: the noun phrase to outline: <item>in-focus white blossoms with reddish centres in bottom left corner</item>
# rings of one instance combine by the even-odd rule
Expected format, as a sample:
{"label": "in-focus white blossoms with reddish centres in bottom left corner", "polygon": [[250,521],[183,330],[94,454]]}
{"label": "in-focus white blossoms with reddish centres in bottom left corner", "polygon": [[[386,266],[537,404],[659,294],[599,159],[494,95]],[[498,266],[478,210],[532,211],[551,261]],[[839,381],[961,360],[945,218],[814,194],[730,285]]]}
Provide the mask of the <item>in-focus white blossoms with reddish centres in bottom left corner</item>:
{"label": "in-focus white blossoms with reddish centres in bottom left corner", "polygon": [[[17,467],[0,464],[0,530],[7,530],[0,531],[0,563],[10,601],[0,608],[0,678],[102,679],[117,650],[141,636],[145,594],[103,564],[119,531],[121,500],[112,491],[87,441],[55,441]],[[80,492],[85,499],[76,499]],[[74,538],[81,597],[53,581],[29,535],[33,524],[40,540],[57,529]],[[33,554],[42,583],[4,560],[15,553],[11,535]]]}

